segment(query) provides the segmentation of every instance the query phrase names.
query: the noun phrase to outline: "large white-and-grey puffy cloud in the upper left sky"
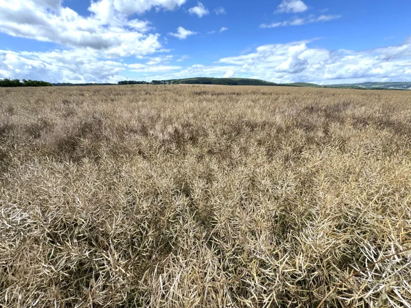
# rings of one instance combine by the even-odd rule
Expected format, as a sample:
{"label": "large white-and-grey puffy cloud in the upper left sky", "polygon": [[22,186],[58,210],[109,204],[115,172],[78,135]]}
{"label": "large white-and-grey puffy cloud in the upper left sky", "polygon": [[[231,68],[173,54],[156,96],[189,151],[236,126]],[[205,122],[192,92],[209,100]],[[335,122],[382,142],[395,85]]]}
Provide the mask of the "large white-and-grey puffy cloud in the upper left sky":
{"label": "large white-and-grey puffy cloud in the upper left sky", "polygon": [[[127,10],[122,10],[123,13],[116,10],[118,1],[91,2],[91,14],[83,16],[68,7],[62,7],[57,0],[1,0],[0,31],[68,48],[98,51],[103,57],[123,57],[161,50],[158,41],[160,35],[147,34],[150,23],[129,18],[128,13],[124,13]],[[176,1],[181,3],[182,0]],[[147,3],[172,7],[170,1]],[[122,4],[121,8],[125,9],[125,0]]]}

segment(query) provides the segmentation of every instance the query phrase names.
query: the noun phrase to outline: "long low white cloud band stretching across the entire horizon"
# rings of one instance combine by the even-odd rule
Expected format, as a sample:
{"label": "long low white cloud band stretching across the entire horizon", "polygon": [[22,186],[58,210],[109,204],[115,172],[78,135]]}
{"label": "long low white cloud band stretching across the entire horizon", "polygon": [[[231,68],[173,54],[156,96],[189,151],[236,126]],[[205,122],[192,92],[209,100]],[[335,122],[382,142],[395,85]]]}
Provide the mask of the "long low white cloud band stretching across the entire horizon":
{"label": "long low white cloud band stretching across the entire horizon", "polygon": [[151,81],[201,75],[317,84],[411,79],[409,40],[396,46],[362,51],[311,48],[311,42],[262,45],[244,54],[222,58],[211,65],[195,64],[189,67],[171,64],[174,59],[171,55],[138,56],[136,62],[141,63],[125,64],[121,61],[99,60],[97,53],[83,49],[50,52],[0,50],[0,78],[118,82],[125,80],[125,76]]}

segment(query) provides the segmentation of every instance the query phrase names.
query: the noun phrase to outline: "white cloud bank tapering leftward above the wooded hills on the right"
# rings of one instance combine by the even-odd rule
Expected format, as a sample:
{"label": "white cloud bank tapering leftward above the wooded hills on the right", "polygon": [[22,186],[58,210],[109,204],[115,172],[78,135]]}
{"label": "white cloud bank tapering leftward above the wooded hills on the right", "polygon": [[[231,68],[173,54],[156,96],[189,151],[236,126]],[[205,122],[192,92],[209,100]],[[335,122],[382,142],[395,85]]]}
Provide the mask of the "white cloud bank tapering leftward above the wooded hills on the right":
{"label": "white cloud bank tapering leftward above the wooded hills on the right", "polygon": [[276,83],[354,83],[411,79],[411,40],[397,46],[363,51],[311,48],[312,40],[259,46],[225,57],[213,65],[196,64],[147,79],[175,79],[227,74]]}

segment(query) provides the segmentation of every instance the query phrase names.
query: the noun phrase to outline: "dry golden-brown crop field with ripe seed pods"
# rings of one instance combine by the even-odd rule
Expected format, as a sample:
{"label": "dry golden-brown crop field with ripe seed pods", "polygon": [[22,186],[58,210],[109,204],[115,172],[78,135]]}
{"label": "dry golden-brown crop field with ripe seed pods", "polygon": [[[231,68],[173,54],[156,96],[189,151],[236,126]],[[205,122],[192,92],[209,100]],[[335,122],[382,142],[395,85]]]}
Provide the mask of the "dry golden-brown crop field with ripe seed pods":
{"label": "dry golden-brown crop field with ripe seed pods", "polygon": [[0,306],[411,307],[410,192],[411,91],[0,88]]}

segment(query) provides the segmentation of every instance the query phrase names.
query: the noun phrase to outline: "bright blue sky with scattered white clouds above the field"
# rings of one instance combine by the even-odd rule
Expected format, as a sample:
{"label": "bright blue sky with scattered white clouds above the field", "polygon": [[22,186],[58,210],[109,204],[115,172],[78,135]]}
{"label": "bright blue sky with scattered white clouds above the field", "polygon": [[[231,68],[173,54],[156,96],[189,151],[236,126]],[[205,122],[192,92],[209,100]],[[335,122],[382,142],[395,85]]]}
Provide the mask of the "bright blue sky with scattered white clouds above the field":
{"label": "bright blue sky with scattered white clouds above the field", "polygon": [[0,78],[411,80],[411,3],[0,0]]}

